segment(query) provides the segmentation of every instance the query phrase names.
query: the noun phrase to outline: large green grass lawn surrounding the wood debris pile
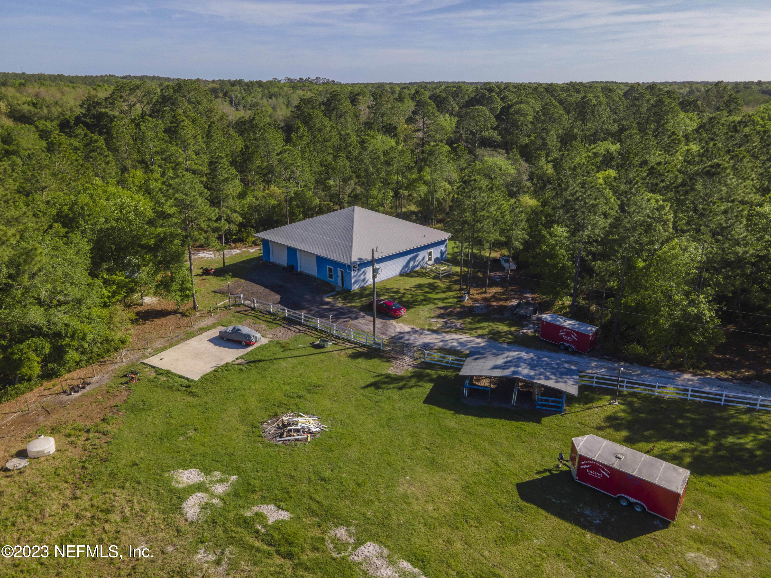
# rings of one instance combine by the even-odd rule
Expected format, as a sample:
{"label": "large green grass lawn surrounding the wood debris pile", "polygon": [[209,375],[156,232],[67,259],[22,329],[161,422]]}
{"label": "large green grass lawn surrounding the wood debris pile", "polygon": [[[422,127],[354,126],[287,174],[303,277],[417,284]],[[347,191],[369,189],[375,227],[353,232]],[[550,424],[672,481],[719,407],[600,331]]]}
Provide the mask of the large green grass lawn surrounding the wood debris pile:
{"label": "large green grass lawn surrounding the wood debris pile", "polygon": [[[271,341],[197,382],[158,371],[133,386],[120,423],[69,430],[69,453],[3,474],[0,497],[14,506],[0,517],[3,543],[141,543],[153,555],[0,560],[3,575],[200,576],[206,549],[234,576],[359,576],[325,546],[341,525],[356,547],[378,543],[429,578],[771,575],[771,416],[643,395],[613,406],[592,391],[566,415],[473,408],[453,372],[394,375],[385,358],[312,339]],[[288,411],[320,415],[329,431],[265,442],[261,422]],[[555,470],[587,433],[655,444],[692,469],[677,523]],[[238,476],[196,523],[180,506],[207,489],[167,476],[190,468]],[[259,504],[293,518],[244,516]]]}

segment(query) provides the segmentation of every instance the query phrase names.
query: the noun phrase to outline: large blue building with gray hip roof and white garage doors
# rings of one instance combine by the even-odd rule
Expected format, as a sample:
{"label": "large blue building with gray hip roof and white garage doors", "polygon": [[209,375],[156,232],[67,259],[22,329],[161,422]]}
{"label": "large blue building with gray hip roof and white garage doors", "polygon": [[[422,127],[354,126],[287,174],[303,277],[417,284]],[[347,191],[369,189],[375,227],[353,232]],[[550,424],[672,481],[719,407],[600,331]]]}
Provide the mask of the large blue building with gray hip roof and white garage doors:
{"label": "large blue building with gray hip roof and white garage doors", "polygon": [[362,207],[327,213],[262,231],[262,258],[329,283],[358,289],[447,258],[449,233]]}

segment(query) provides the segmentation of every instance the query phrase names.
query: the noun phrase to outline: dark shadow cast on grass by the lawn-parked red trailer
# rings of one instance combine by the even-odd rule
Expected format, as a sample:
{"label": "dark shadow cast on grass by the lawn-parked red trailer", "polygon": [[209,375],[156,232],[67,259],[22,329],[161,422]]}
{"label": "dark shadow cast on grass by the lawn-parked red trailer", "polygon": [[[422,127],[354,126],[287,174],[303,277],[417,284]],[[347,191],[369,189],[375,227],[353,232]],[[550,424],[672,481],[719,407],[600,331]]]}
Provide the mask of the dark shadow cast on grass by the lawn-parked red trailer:
{"label": "dark shadow cast on grass by the lawn-parked red trailer", "polygon": [[666,529],[669,522],[647,512],[635,512],[598,490],[574,481],[563,470],[517,484],[523,502],[537,506],[564,522],[614,540],[628,540]]}

